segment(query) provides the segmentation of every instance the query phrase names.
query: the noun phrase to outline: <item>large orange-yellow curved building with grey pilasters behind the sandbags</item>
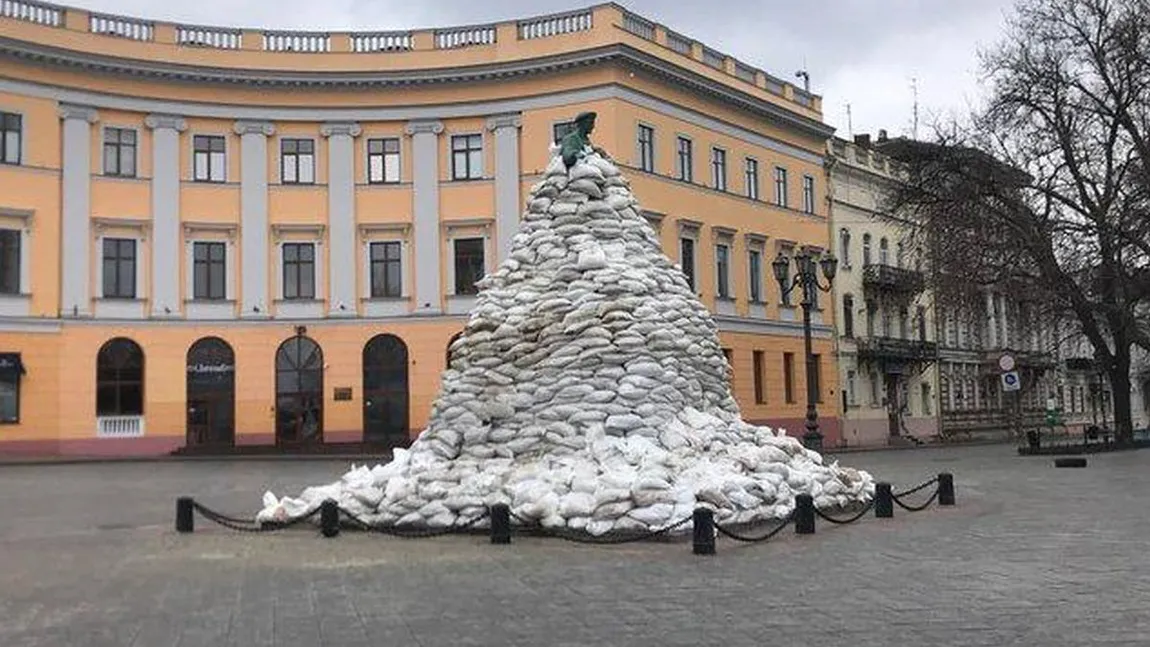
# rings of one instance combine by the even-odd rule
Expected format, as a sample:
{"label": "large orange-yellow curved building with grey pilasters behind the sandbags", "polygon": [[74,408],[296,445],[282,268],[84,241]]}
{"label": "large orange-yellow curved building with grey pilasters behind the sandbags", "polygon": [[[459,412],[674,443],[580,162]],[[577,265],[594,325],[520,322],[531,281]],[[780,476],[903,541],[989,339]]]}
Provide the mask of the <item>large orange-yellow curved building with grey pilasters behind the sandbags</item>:
{"label": "large orange-yellow curved building with grey pilasters behind the sandbags", "polygon": [[616,5],[300,33],[8,0],[0,33],[0,454],[407,441],[582,110],[744,417],[803,431],[769,263],[828,248],[818,97]]}

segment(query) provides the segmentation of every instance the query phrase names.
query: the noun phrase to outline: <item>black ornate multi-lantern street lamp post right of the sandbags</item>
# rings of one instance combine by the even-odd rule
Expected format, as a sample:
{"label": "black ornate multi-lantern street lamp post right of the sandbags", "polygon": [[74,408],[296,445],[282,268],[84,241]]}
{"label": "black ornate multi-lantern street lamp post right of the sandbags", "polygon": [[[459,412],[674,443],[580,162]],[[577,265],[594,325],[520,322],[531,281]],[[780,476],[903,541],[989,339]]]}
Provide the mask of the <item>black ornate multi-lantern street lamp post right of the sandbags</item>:
{"label": "black ornate multi-lantern street lamp post right of the sandbags", "polygon": [[[815,401],[819,399],[814,375],[818,368],[814,364],[814,353],[811,351],[811,309],[814,307],[819,292],[830,292],[835,280],[835,272],[838,270],[838,260],[833,254],[827,254],[821,259],[815,259],[808,252],[799,252],[795,255],[793,279],[790,276],[790,260],[782,253],[772,263],[775,271],[775,280],[785,298],[796,287],[803,288],[803,344],[806,352],[806,433],[803,434],[803,444],[810,449],[822,449],[822,432],[819,431],[819,411]],[[819,279],[819,269],[827,279],[823,285]]]}

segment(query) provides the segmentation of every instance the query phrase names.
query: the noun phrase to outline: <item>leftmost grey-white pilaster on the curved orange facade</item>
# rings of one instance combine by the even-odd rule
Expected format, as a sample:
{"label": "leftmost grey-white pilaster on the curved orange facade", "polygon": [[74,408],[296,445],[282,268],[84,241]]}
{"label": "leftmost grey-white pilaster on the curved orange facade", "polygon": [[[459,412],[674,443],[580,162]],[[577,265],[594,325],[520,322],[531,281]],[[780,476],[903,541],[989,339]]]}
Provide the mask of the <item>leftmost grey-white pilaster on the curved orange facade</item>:
{"label": "leftmost grey-white pilaster on the curved orange facade", "polygon": [[94,108],[60,106],[63,120],[63,179],[61,182],[60,315],[92,315],[90,256],[92,248],[92,124]]}

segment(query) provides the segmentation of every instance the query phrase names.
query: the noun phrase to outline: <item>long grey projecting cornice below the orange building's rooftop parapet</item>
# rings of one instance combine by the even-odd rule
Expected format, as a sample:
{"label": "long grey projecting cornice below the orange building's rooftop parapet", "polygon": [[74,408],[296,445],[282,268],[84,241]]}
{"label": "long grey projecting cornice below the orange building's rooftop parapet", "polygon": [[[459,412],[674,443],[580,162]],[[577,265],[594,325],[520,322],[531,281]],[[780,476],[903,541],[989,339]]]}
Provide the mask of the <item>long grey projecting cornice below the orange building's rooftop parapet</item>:
{"label": "long grey projecting cornice below the orange building's rooftop parapet", "polygon": [[244,70],[208,68],[179,63],[122,59],[103,54],[74,52],[10,38],[0,38],[0,55],[39,64],[80,68],[118,76],[147,77],[159,80],[207,84],[244,84],[293,87],[394,87],[447,83],[498,80],[527,75],[551,74],[572,68],[620,62],[637,70],[662,77],[687,90],[734,103],[773,122],[789,125],[820,139],[830,138],[835,129],[773,101],[743,92],[737,87],[624,44],[540,56],[526,61],[467,67],[415,69],[398,71],[314,72],[279,70]]}

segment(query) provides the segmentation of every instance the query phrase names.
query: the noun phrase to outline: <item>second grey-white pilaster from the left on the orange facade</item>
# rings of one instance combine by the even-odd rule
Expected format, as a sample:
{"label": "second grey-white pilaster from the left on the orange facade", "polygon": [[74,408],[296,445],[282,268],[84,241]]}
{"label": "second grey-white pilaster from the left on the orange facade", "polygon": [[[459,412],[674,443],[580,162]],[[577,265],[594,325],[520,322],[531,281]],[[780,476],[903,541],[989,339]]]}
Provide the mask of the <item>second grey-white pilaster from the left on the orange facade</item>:
{"label": "second grey-white pilaster from the left on the orange facade", "polygon": [[144,124],[152,129],[152,316],[179,316],[179,133],[187,124],[172,115]]}

